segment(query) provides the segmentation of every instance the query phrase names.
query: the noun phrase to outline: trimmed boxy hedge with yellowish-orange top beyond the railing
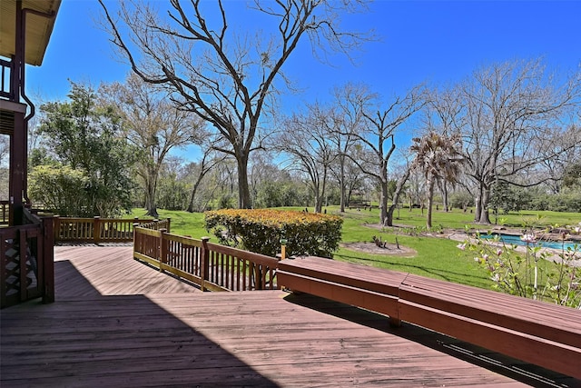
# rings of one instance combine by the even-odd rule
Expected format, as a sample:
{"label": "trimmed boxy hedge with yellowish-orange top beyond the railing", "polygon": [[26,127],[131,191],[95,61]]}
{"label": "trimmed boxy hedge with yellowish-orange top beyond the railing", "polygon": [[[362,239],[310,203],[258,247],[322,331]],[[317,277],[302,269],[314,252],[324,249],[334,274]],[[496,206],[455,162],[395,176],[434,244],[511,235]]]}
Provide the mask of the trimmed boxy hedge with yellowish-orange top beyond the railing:
{"label": "trimmed boxy hedge with yellowish-orange top beyond the railing", "polygon": [[339,248],[343,219],[337,215],[273,209],[223,209],[204,214],[205,227],[221,244],[239,245],[258,254],[276,256],[281,239],[287,255],[331,257]]}

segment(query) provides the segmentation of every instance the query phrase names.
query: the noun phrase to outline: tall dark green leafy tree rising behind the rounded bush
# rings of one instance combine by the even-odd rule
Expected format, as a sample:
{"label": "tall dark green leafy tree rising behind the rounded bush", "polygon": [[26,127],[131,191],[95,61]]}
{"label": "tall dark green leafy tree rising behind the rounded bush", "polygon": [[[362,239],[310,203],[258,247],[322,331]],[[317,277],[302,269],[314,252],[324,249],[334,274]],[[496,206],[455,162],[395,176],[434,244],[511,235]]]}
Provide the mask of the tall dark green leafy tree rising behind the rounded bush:
{"label": "tall dark green leafy tree rising behind the rounded bush", "polygon": [[[89,87],[72,83],[69,99],[44,104],[40,128],[58,161],[87,179],[83,193],[78,193],[79,207],[69,209],[68,215],[120,214],[131,205],[129,171],[134,160],[121,135],[121,120],[112,106],[97,104],[97,96]],[[37,159],[42,162],[44,157],[39,154]]]}

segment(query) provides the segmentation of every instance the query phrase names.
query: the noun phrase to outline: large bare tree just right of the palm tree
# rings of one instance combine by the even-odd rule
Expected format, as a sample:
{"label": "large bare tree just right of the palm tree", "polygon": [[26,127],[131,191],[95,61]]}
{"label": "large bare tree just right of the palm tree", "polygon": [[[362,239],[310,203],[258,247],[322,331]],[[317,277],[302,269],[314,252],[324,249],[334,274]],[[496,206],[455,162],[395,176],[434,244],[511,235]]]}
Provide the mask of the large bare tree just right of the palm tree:
{"label": "large bare tree just right of the palm tree", "polygon": [[477,186],[475,221],[490,224],[487,204],[494,184],[539,184],[529,175],[521,183],[514,177],[564,151],[556,147],[556,123],[579,109],[581,75],[555,85],[540,61],[516,61],[479,70],[461,91],[465,108],[457,124],[466,173]]}

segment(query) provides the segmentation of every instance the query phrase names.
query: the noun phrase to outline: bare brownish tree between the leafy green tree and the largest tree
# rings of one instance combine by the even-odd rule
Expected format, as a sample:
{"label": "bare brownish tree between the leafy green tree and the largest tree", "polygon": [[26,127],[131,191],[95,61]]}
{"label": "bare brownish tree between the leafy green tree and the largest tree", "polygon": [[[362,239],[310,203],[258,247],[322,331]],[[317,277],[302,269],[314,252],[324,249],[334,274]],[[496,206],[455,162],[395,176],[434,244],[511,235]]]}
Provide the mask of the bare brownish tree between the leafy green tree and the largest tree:
{"label": "bare brownish tree between the leafy green tree and the largest tree", "polygon": [[129,75],[124,84],[101,85],[100,91],[122,114],[127,139],[143,152],[136,173],[145,186],[147,214],[158,217],[155,194],[162,164],[173,148],[201,143],[204,124],[169,104],[159,87],[136,75]]}

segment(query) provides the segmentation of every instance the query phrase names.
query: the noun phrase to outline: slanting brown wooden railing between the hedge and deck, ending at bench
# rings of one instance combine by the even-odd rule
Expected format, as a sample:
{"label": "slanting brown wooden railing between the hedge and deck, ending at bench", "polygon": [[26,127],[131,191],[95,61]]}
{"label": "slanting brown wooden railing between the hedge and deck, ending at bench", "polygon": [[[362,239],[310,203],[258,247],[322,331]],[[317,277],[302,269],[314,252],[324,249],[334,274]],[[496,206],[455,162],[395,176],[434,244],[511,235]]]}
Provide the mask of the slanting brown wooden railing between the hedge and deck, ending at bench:
{"label": "slanting brown wooden railing between the hedge and deck, ending at bench", "polygon": [[278,259],[134,226],[133,258],[200,285],[202,291],[274,290]]}

